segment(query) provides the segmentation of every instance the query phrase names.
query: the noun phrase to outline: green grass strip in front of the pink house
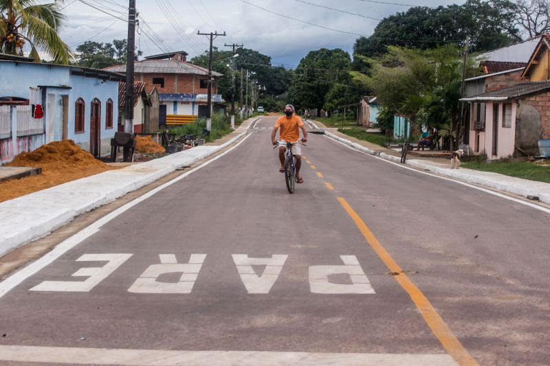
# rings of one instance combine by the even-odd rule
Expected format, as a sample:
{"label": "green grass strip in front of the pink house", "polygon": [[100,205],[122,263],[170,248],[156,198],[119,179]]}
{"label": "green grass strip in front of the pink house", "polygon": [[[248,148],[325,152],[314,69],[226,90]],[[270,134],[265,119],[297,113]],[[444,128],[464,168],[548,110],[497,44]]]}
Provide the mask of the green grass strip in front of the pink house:
{"label": "green grass strip in front of the pink house", "polygon": [[515,176],[516,178],[529,179],[529,181],[550,183],[550,165],[538,165],[530,161],[518,163],[511,161],[496,161],[494,163],[470,161],[462,163],[462,167]]}

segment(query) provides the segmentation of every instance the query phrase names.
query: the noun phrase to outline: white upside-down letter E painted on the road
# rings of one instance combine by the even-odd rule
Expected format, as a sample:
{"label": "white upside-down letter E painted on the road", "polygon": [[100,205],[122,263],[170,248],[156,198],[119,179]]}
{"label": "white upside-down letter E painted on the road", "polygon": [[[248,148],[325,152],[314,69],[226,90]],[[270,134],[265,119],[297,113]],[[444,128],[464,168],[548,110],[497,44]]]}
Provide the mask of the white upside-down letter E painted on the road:
{"label": "white upside-down letter E painted on the road", "polygon": [[116,268],[126,262],[131,254],[84,254],[77,262],[107,262],[102,267],[80,268],[73,273],[74,277],[88,277],[85,281],[44,281],[31,288],[31,291],[63,291],[73,293],[87,293],[97,284],[107,278]]}

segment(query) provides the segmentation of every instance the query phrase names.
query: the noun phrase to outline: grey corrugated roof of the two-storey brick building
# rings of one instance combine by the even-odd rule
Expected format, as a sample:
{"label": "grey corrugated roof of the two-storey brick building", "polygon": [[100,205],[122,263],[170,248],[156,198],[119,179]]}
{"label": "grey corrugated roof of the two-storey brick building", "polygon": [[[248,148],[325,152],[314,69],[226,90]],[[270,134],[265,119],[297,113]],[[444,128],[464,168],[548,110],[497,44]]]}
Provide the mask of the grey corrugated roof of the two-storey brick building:
{"label": "grey corrugated roof of the two-storey brick building", "polygon": [[[133,64],[135,73],[190,73],[208,75],[208,69],[177,60],[142,60]],[[126,73],[126,65],[106,67],[107,71]],[[212,76],[223,76],[223,73],[212,71]]]}

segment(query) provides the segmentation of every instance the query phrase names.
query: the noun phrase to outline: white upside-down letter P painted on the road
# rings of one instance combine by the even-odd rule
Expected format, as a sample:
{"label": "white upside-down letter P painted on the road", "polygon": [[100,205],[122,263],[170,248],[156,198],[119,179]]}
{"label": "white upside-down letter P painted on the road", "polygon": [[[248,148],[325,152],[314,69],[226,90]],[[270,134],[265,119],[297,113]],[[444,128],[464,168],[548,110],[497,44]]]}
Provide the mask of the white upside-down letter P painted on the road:
{"label": "white upside-down letter P painted on the road", "polygon": [[[355,255],[340,255],[343,266],[310,266],[309,289],[316,294],[373,294],[369,279]],[[329,275],[349,275],[351,284],[335,284]]]}

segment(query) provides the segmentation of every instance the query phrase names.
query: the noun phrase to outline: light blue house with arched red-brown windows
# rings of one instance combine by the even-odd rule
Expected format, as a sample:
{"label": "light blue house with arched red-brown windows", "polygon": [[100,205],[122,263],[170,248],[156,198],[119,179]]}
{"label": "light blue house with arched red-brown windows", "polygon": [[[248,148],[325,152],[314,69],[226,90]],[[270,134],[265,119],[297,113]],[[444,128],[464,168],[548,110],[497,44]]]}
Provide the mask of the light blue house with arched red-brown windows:
{"label": "light blue house with arched red-brown windows", "polygon": [[0,162],[63,139],[108,155],[120,81],[120,73],[0,54]]}

